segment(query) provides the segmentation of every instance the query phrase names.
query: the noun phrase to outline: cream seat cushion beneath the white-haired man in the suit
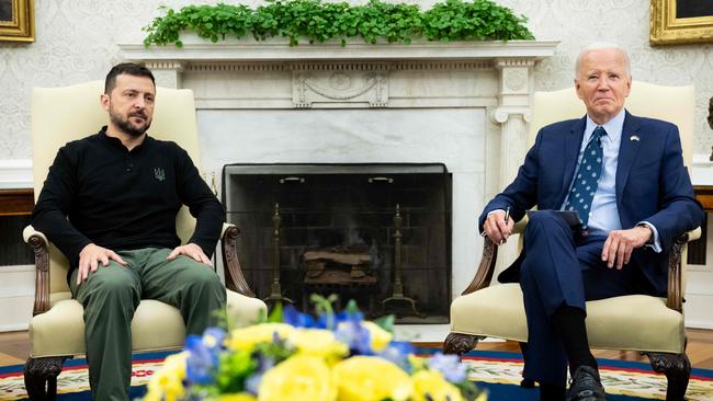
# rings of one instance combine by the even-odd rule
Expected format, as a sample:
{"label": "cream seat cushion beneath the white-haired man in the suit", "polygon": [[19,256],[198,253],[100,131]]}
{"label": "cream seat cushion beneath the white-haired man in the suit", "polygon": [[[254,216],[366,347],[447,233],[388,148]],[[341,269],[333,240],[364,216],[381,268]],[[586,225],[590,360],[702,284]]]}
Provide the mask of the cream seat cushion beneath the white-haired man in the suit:
{"label": "cream seat cushion beneath the white-haired man in the suit", "polygon": [[[461,296],[451,303],[451,332],[527,342],[522,305],[519,284]],[[683,316],[667,308],[665,298],[644,295],[588,301],[587,335],[596,348],[682,353]]]}

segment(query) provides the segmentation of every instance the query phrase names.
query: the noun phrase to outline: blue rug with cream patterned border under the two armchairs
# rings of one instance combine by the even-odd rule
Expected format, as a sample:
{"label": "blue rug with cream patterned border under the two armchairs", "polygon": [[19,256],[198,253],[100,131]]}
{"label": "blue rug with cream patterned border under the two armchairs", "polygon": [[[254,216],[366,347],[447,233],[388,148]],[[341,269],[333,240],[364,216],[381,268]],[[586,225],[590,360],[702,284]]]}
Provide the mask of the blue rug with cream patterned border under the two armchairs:
{"label": "blue rug with cream patterned border under the two armchairs", "polygon": [[[438,350],[419,348],[428,357]],[[169,353],[145,353],[134,356],[131,399],[142,397],[154,371],[161,367]],[[473,351],[464,355],[473,373],[471,379],[490,392],[489,400],[539,400],[536,389],[519,386],[522,356],[517,353]],[[607,399],[611,401],[664,400],[666,377],[652,371],[644,363],[598,359]],[[90,400],[86,360],[70,359],[57,379],[57,400]],[[690,401],[713,401],[713,370],[693,369],[686,393]],[[22,365],[0,367],[0,400],[26,400]]]}

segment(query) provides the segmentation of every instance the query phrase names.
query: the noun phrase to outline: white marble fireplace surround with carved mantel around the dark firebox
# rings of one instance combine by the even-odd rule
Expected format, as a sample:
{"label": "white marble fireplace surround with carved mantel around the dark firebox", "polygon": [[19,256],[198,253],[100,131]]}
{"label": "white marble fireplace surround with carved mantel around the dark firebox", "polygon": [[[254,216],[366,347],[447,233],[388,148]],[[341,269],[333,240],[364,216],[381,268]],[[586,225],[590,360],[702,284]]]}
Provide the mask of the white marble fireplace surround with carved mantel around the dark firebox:
{"label": "white marble fireplace surround with carved mantel around the dark firebox", "polygon": [[[448,168],[452,190],[449,211],[452,217],[446,220],[444,236],[446,250],[450,250],[445,254],[450,268],[445,279],[450,282],[446,289],[438,291],[454,297],[467,287],[483,244],[477,232],[477,216],[487,199],[512,180],[524,157],[534,88],[533,68],[539,60],[554,54],[557,42],[414,42],[410,45],[356,42],[346,47],[339,43],[290,47],[279,41],[228,38],[206,44],[197,37],[185,37],[183,43],[180,49],[173,46],[146,48],[138,43],[120,47],[126,59],[151,68],[158,85],[193,91],[201,133],[202,172],[217,176],[223,167],[230,163],[362,167],[364,163],[442,163]],[[298,176],[296,173],[275,174]],[[228,177],[218,181],[218,186],[229,182]],[[295,182],[287,185],[298,186]],[[222,187],[218,191],[225,192]],[[281,228],[290,229],[286,225],[296,218],[287,210],[290,205],[273,199],[270,203],[265,199],[267,206],[260,217],[262,227],[271,230],[274,203],[279,205]],[[395,206],[395,203],[388,204],[378,215],[382,227],[394,225]],[[399,208],[405,225],[404,257],[414,257],[407,249],[407,241],[411,240],[408,218],[414,210],[406,202],[399,203]],[[238,217],[230,215],[229,218]],[[244,228],[242,237],[252,238],[245,231],[245,225],[238,225]],[[264,229],[260,237],[264,247],[259,263],[253,263],[257,256],[244,255],[254,250],[246,249],[241,256],[253,259],[245,260],[245,267],[252,270],[251,275],[257,275],[256,266],[263,268],[267,278],[260,279],[267,279],[271,286],[270,232]],[[280,233],[282,242],[290,243],[293,239],[288,232]],[[386,240],[392,242],[384,247],[378,243],[385,254],[378,261],[383,264],[396,259],[394,238]],[[514,242],[499,249],[505,256],[499,260],[514,257]],[[296,271],[293,266],[301,263],[312,263],[319,270],[318,265],[324,263],[347,270],[346,264],[351,276],[351,265],[343,263],[344,257],[361,260],[364,265],[375,263],[371,253],[372,259],[366,262],[365,251],[349,248],[349,241],[347,245],[322,247],[319,252],[327,253],[307,254],[307,262],[302,262],[302,253],[287,252],[283,248],[281,245],[281,273],[282,267]],[[406,268],[410,265],[405,261],[405,272]],[[432,295],[426,289],[412,288],[409,274],[404,274],[407,277],[403,283],[404,296],[417,298],[420,313],[428,303],[423,297]],[[354,275],[361,275],[359,268]],[[393,273],[387,280],[380,279],[380,285],[395,284],[392,277]],[[286,291],[290,285],[296,286],[293,282],[284,287],[281,283],[280,289]],[[261,297],[270,295],[264,289],[268,284],[258,285],[252,279],[250,284]],[[364,291],[367,290],[375,291],[375,288]],[[382,288],[378,290],[381,296],[386,294]],[[294,297],[293,293],[285,294]],[[398,301],[386,306],[396,308],[396,303]],[[403,312],[404,319],[411,319],[408,310]],[[435,312],[428,313],[434,316]]]}

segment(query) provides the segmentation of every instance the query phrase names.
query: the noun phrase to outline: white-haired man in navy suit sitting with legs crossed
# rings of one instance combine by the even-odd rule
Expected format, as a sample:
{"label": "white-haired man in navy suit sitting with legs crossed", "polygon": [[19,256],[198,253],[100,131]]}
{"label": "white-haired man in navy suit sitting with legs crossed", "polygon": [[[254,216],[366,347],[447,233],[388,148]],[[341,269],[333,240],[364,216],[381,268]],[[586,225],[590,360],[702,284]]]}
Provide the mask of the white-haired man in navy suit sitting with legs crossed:
{"label": "white-haired man in navy suit sitting with legs crossed", "polygon": [[[624,110],[631,85],[622,48],[585,48],[575,89],[587,115],[542,128],[514,181],[479,219],[483,232],[501,243],[527,209],[541,210],[527,226],[522,254],[499,278],[522,288],[523,375],[540,382],[542,400],[606,399],[589,351],[585,301],[665,296],[675,239],[703,220],[678,128]],[[579,224],[553,210],[576,210]]]}

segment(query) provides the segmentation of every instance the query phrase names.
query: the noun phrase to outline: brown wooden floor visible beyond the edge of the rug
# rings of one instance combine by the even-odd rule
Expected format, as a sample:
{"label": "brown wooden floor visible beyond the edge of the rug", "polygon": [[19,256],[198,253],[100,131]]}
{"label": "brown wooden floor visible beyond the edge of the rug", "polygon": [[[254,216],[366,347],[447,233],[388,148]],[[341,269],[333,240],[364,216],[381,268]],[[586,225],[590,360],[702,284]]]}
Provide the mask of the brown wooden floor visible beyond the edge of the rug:
{"label": "brown wooden floor visible beyond the edge of the rug", "polygon": [[[689,329],[687,354],[695,368],[713,369],[713,330]],[[422,345],[440,347],[440,343],[423,343]],[[520,346],[514,342],[485,342],[478,344],[478,350],[520,352]],[[0,366],[24,364],[30,355],[30,345],[26,331],[0,333]],[[645,356],[636,352],[595,350],[598,358],[642,360],[648,362]]]}

